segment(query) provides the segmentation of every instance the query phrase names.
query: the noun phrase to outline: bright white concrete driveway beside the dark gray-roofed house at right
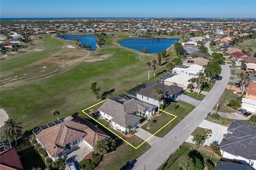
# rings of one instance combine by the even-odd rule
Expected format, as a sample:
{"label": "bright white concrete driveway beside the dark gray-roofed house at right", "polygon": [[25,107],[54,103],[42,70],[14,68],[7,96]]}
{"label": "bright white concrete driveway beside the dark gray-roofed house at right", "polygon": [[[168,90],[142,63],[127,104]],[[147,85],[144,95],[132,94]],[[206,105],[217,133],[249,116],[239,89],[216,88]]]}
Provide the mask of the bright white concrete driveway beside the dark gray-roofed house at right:
{"label": "bright white concrete driveway beside the dark gray-roofed house at right", "polygon": [[[220,144],[221,140],[223,139],[223,134],[227,133],[228,127],[224,127],[222,125],[218,125],[216,123],[209,122],[207,120],[203,120],[202,123],[198,127],[201,128],[208,128],[212,129],[212,136],[204,141],[203,145],[210,145],[212,142],[216,142]],[[194,143],[192,142],[192,138],[194,136],[190,135],[185,142]]]}

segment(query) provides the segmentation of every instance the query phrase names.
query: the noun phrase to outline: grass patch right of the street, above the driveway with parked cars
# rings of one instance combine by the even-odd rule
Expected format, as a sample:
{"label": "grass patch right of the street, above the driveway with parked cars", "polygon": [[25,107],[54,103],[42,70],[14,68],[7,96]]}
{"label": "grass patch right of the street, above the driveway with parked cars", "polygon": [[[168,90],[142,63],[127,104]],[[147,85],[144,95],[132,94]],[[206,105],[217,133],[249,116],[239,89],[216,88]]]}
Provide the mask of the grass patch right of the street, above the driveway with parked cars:
{"label": "grass patch right of the street, above the driveway with parked cars", "polygon": [[222,93],[222,95],[219,99],[220,108],[218,111],[227,112],[227,113],[236,112],[235,110],[233,110],[227,106],[229,101],[231,101],[232,99],[236,100],[236,98],[237,98],[237,95],[234,94],[233,92],[234,92],[234,90],[228,90],[228,89],[224,90],[224,92]]}

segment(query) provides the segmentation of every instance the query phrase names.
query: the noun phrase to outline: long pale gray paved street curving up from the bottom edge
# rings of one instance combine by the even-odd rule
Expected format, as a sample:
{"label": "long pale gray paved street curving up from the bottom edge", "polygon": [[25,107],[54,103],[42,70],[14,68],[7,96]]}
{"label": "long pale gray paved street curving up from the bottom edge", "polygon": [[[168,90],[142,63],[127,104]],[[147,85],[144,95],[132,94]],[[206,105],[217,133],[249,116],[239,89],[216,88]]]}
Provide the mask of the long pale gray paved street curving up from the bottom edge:
{"label": "long pale gray paved street curving up from the bottom edge", "polygon": [[146,170],[157,170],[200,125],[206,114],[212,111],[226,88],[230,77],[230,68],[227,64],[222,65],[220,75],[223,77],[222,80],[216,82],[201,103],[166,136],[137,159],[134,170],[144,170],[144,166]]}

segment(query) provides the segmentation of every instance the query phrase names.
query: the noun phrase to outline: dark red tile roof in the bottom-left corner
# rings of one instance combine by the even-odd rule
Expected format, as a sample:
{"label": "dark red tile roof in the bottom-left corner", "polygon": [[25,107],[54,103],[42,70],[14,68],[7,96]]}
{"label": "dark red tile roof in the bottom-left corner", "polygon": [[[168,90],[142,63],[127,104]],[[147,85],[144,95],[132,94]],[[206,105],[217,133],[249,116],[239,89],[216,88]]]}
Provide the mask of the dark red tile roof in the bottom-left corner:
{"label": "dark red tile roof in the bottom-left corner", "polygon": [[16,148],[0,152],[0,170],[23,170]]}

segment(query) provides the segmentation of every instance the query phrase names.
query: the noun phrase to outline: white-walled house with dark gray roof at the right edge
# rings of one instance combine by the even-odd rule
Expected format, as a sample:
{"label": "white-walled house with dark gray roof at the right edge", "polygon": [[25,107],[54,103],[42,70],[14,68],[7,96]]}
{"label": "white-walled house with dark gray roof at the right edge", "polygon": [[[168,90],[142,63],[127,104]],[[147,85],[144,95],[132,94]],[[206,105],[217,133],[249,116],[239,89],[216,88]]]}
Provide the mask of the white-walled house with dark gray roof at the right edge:
{"label": "white-walled house with dark gray roof at the right edge", "polygon": [[220,142],[222,156],[256,169],[256,126],[236,120],[227,131]]}

